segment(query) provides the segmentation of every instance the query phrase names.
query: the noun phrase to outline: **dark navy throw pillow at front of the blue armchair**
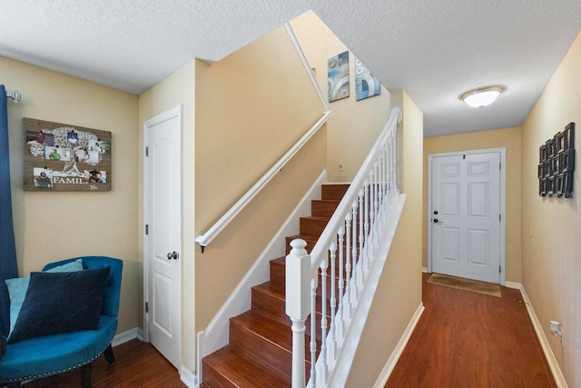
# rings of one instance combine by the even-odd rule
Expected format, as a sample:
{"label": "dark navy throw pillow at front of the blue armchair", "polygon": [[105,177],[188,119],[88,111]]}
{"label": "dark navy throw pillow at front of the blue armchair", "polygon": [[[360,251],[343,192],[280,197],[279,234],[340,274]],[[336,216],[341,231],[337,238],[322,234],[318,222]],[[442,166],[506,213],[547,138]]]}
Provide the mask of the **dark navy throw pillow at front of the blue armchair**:
{"label": "dark navy throw pillow at front of the blue armchair", "polygon": [[99,329],[111,267],[71,273],[32,273],[8,343],[57,333]]}

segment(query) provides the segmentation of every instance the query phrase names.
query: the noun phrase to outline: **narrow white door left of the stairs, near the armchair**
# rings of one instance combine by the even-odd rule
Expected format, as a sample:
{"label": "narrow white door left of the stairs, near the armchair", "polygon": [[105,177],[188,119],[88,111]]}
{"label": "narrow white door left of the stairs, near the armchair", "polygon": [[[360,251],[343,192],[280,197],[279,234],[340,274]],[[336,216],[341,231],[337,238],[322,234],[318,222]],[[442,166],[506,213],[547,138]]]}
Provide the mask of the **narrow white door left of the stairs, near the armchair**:
{"label": "narrow white door left of the stairs, near the armchair", "polygon": [[143,124],[145,340],[180,368],[182,108]]}

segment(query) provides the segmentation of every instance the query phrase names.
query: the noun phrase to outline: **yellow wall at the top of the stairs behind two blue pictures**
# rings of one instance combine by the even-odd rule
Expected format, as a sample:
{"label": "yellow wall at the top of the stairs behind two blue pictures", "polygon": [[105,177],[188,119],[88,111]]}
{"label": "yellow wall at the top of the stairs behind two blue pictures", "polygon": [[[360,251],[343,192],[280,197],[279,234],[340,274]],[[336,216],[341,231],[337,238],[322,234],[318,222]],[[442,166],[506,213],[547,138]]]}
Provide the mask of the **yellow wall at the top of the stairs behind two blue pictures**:
{"label": "yellow wall at the top of the stairs behind two blue pictures", "polygon": [[[316,69],[317,83],[327,98],[327,61],[348,48],[312,12],[293,19],[291,26],[310,67]],[[333,111],[327,131],[327,177],[330,182],[353,180],[389,119],[389,92],[383,85],[380,95],[355,100],[355,59],[350,52],[350,96],[329,103]],[[343,162],[343,171],[339,170],[339,162]]]}

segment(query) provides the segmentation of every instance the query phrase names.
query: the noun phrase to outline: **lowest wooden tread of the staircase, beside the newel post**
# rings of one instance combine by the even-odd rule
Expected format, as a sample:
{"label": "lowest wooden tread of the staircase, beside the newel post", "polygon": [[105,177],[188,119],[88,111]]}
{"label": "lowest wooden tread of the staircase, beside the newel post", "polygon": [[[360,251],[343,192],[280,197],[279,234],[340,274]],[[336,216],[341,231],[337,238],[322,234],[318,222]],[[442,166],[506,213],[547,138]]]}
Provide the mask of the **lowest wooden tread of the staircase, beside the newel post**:
{"label": "lowest wooden tread of the staircase, beside the newel post", "polygon": [[[289,387],[291,377],[261,363],[259,359],[228,344],[203,358],[204,372],[210,372],[208,366],[221,374],[221,377],[233,383],[233,386]],[[220,384],[220,382],[217,382]],[[213,388],[212,385],[206,386]],[[222,386],[216,385],[216,386]]]}

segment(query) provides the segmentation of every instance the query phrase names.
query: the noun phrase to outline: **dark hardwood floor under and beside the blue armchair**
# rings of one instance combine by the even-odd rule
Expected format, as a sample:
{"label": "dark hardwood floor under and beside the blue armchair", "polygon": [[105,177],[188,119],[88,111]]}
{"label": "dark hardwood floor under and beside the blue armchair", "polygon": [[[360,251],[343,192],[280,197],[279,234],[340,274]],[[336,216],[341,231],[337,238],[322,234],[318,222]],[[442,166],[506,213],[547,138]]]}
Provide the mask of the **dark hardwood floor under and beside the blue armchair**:
{"label": "dark hardwood floor under and beside the blue armchair", "polygon": [[[113,348],[116,362],[108,365],[103,355],[93,363],[93,387],[186,387],[178,371],[150,343],[132,340]],[[79,388],[76,369],[22,385],[23,388]]]}

